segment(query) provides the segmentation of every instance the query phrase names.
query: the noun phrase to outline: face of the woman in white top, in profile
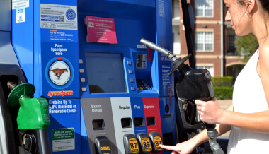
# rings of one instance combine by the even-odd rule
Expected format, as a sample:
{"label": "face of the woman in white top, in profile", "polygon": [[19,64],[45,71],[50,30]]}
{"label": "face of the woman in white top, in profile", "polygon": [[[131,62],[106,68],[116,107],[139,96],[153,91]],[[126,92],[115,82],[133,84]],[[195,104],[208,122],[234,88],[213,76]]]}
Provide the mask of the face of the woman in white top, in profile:
{"label": "face of the woman in white top, in profile", "polygon": [[235,30],[236,35],[248,35],[251,31],[251,24],[247,13],[247,7],[239,4],[236,0],[224,0],[227,7],[225,16],[226,21],[231,22],[231,28]]}

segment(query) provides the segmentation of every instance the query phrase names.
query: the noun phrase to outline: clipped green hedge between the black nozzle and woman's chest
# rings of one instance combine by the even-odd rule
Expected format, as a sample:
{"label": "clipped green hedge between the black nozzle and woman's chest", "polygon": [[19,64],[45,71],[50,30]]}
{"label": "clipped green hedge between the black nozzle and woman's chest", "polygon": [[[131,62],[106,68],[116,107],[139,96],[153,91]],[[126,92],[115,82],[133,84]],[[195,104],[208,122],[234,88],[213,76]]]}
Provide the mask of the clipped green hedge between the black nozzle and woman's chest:
{"label": "clipped green hedge between the black nozzle and woman's chest", "polygon": [[234,90],[233,83],[234,78],[232,76],[212,77],[214,97],[219,100],[231,100]]}

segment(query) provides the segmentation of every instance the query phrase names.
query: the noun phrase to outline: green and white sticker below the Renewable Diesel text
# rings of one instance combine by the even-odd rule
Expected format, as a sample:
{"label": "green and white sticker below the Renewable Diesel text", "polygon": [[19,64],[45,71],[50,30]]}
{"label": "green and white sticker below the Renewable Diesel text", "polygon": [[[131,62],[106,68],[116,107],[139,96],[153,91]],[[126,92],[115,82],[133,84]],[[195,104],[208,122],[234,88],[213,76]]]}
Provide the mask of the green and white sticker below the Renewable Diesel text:
{"label": "green and white sticker below the Renewable Diesel text", "polygon": [[75,149],[75,129],[52,129],[52,151]]}

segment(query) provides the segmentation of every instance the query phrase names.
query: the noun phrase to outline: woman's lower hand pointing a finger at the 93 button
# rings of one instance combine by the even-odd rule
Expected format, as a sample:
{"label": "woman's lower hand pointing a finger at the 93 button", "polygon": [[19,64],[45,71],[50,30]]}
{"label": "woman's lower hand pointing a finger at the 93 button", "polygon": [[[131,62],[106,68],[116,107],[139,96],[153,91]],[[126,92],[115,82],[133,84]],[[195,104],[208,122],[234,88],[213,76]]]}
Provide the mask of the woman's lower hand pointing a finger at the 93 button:
{"label": "woman's lower hand pointing a finger at the 93 button", "polygon": [[179,154],[179,153],[188,154],[188,153],[193,152],[195,148],[195,143],[193,143],[192,139],[182,142],[182,143],[177,143],[176,146],[160,145],[160,147],[165,148],[167,150],[172,150],[173,152],[171,154]]}

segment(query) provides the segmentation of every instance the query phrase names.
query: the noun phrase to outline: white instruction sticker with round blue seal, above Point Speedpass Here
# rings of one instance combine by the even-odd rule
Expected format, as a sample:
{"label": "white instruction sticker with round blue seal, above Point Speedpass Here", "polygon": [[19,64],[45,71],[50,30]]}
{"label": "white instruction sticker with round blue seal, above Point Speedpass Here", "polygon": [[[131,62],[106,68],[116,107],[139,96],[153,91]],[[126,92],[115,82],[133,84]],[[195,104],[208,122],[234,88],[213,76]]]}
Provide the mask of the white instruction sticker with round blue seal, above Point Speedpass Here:
{"label": "white instruction sticker with round blue seal, above Point Speedpass Here", "polygon": [[40,28],[77,30],[76,6],[40,4]]}

